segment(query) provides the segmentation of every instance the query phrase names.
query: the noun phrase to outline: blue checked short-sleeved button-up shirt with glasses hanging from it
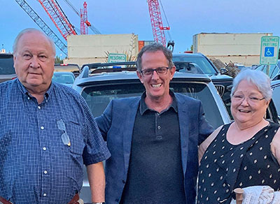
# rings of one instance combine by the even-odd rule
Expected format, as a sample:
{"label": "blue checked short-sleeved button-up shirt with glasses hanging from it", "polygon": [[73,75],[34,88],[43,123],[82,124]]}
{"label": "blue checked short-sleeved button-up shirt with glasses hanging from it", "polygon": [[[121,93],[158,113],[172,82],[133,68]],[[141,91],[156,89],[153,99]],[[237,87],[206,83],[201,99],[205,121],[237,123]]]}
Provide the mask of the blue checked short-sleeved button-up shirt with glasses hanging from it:
{"label": "blue checked short-sleeved button-up shirt with glasses hanging from it", "polygon": [[13,203],[68,203],[82,187],[83,164],[110,156],[85,100],[69,87],[52,82],[38,104],[18,79],[3,82],[0,107],[0,196]]}

